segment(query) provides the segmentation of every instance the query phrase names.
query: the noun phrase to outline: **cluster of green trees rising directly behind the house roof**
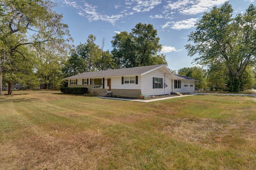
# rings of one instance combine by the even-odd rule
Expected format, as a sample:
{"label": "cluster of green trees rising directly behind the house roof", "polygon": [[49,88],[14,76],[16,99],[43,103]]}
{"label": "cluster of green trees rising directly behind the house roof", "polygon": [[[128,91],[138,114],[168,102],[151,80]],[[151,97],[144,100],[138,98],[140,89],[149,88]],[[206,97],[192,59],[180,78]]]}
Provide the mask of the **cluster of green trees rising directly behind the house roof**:
{"label": "cluster of green trees rising directly behind the house roof", "polygon": [[162,45],[157,30],[152,24],[138,23],[130,33],[116,34],[111,41],[113,50],[104,51],[102,44],[95,44],[96,36],[90,34],[84,44],[79,44],[70,52],[62,72],[72,76],[82,72],[92,72],[117,68],[166,64],[165,55],[158,55]]}

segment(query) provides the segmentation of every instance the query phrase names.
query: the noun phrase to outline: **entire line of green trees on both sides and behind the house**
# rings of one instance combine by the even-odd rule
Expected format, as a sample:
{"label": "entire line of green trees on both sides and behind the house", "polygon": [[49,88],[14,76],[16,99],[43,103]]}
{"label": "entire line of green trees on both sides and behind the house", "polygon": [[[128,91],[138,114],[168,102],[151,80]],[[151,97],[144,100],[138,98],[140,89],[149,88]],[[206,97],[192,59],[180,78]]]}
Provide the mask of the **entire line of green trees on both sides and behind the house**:
{"label": "entire line of green trees on both sides and behind the house", "polygon": [[[63,85],[62,78],[82,72],[166,64],[159,54],[162,45],[152,24],[138,23],[131,32],[120,32],[111,40],[112,50],[104,50],[105,39],[95,44],[90,34],[84,44],[72,47],[68,26],[62,23],[51,1],[0,1],[0,96],[2,86],[39,83]],[[239,92],[255,87],[256,6],[233,15],[225,2],[205,12],[196,23],[185,47],[194,62],[207,68],[182,68],[179,74],[200,80],[196,88]]]}

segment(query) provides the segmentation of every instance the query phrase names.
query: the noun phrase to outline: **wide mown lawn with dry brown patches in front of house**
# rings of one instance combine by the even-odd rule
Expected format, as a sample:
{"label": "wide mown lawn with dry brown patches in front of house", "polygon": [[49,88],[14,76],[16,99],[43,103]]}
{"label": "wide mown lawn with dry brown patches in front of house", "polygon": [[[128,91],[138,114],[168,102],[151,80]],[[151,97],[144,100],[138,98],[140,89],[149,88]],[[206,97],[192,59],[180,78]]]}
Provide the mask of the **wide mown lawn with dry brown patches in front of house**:
{"label": "wide mown lawn with dry brown patches in front of house", "polygon": [[0,169],[256,169],[253,97],[140,103],[50,90],[14,94],[0,97]]}

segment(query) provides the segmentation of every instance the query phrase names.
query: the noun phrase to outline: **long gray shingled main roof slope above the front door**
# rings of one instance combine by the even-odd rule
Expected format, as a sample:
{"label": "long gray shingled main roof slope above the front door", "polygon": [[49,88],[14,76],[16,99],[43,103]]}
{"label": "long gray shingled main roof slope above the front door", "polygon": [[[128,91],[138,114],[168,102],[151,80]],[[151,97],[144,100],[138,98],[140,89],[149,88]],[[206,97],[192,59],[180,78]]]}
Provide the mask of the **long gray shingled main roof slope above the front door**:
{"label": "long gray shingled main roof slope above the front door", "polygon": [[133,68],[121,68],[115,70],[104,70],[104,71],[96,71],[96,72],[84,72],[81,74],[77,74],[74,76],[70,76],[64,78],[64,80],[68,79],[77,79],[77,78],[96,78],[96,77],[110,77],[110,76],[125,76],[125,75],[133,75],[133,74],[143,74],[150,70],[155,70],[165,66],[164,64],[153,65],[153,66],[142,66],[142,67],[133,67]]}

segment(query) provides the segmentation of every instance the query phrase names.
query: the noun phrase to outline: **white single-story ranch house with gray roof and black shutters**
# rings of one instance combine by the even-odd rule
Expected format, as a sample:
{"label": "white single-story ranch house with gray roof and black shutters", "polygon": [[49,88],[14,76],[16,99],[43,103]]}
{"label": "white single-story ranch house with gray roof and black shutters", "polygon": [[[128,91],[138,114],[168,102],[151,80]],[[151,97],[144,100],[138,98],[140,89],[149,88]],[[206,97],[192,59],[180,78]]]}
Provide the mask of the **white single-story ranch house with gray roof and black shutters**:
{"label": "white single-story ranch house with gray roof and black shutters", "polygon": [[170,94],[172,92],[194,92],[195,80],[172,74],[164,65],[122,68],[95,72],[84,72],[64,78],[68,87],[86,87],[89,94],[110,93],[112,96],[138,98]]}

